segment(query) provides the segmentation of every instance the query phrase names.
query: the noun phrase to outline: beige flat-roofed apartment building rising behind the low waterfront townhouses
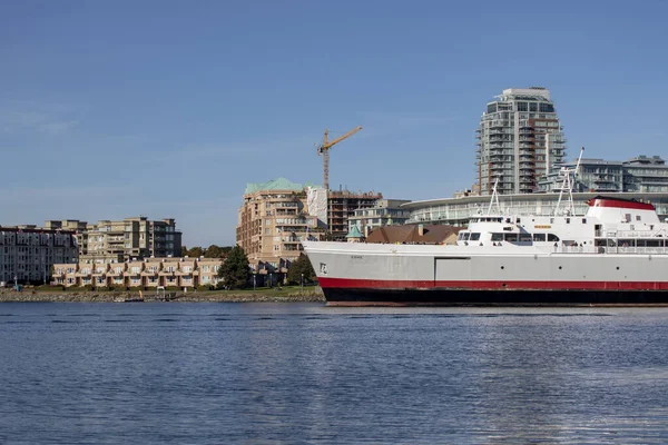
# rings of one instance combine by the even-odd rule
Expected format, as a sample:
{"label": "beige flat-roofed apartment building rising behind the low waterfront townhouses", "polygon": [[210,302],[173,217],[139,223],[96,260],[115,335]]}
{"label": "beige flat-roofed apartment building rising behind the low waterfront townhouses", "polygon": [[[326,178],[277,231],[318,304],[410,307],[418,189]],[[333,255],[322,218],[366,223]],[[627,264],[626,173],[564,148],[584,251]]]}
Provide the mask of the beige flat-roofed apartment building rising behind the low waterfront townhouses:
{"label": "beige flat-roofed apartment building rising behind the low waterfront townhouses", "polygon": [[80,255],[92,260],[180,256],[181,233],[173,218],[154,221],[140,216],[97,224],[66,219],[48,220],[45,226],[75,230]]}

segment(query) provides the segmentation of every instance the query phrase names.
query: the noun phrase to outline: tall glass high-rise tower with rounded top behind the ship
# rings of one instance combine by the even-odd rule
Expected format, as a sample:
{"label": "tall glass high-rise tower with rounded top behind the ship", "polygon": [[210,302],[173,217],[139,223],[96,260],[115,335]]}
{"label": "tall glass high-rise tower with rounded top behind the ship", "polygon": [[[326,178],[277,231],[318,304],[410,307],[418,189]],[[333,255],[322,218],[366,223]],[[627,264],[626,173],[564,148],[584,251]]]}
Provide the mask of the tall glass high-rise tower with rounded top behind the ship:
{"label": "tall glass high-rise tower with rounded top behind the ship", "polygon": [[490,195],[531,194],[562,162],[566,140],[550,91],[510,88],[487,105],[478,132],[478,184]]}

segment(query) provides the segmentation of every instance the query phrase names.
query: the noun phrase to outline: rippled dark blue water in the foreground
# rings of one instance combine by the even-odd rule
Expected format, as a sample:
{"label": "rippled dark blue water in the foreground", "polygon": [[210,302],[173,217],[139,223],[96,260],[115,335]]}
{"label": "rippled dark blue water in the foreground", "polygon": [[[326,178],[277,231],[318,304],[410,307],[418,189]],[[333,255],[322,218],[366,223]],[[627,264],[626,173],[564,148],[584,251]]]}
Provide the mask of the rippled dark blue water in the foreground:
{"label": "rippled dark blue water in the foreground", "polygon": [[668,443],[668,309],[0,305],[2,444]]}

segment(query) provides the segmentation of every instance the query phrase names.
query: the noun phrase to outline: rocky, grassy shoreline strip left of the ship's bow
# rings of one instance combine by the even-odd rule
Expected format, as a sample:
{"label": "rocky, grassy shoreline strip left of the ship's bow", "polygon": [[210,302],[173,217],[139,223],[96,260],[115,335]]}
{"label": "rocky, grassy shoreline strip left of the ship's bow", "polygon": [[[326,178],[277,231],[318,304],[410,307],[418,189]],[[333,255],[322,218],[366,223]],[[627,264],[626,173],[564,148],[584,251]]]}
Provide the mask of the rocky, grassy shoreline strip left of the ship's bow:
{"label": "rocky, grassy shoreline strip left of the ship's bow", "polygon": [[[148,294],[148,295],[147,295]],[[67,291],[0,289],[0,303],[128,303],[139,299],[138,291]],[[141,301],[141,300],[140,300]],[[170,293],[167,301],[145,293],[143,303],[324,303],[320,288],[308,290],[213,290]]]}

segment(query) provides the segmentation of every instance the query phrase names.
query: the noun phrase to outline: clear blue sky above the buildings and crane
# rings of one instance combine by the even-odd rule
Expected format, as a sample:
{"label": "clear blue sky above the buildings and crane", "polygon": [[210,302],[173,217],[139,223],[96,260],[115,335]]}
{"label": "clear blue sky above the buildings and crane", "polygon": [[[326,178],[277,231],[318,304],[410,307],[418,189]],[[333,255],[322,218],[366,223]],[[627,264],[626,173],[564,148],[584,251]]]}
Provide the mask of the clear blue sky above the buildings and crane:
{"label": "clear blue sky above the buildings and crane", "polygon": [[666,152],[668,2],[0,1],[0,224],[173,217],[230,245],[246,182],[385,197],[475,180],[504,88],[587,157]]}

